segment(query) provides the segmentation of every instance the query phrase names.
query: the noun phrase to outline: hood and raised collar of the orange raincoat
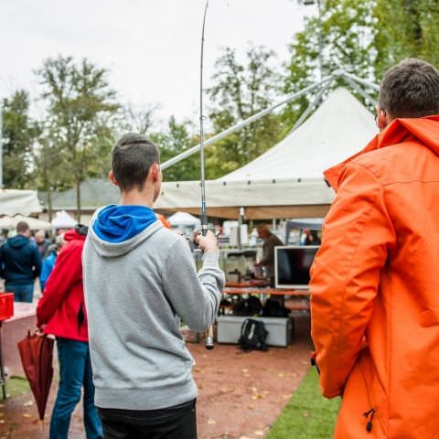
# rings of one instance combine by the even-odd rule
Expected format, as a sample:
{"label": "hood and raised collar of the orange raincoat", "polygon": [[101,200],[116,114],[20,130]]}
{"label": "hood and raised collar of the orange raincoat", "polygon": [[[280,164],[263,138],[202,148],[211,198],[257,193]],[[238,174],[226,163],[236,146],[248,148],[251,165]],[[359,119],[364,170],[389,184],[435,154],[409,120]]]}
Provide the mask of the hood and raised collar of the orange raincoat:
{"label": "hood and raised collar of the orange raincoat", "polygon": [[401,144],[407,140],[425,145],[435,155],[439,155],[439,115],[395,119],[385,130],[377,134],[363,150],[340,164],[330,167],[324,172],[324,176],[329,185],[337,192],[338,177],[349,162],[375,149]]}

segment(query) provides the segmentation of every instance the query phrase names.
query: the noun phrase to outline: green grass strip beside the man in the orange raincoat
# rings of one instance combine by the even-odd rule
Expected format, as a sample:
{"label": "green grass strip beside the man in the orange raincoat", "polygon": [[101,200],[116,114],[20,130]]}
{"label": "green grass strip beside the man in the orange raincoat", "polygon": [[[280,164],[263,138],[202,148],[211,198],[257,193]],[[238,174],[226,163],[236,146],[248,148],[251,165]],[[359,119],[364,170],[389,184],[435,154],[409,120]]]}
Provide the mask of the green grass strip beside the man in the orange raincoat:
{"label": "green grass strip beside the man in the orange raincoat", "polygon": [[327,400],[321,396],[316,368],[311,368],[267,439],[330,439],[339,406],[339,398]]}

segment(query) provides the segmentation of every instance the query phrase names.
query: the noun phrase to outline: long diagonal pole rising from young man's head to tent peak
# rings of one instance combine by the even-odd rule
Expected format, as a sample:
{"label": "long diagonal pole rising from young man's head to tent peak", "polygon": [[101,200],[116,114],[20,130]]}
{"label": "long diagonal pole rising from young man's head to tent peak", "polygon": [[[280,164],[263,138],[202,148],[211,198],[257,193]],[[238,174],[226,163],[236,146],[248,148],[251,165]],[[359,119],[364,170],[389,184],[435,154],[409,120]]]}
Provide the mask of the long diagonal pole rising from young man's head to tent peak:
{"label": "long diagonal pole rising from young man's head to tent peak", "polygon": [[[334,76],[329,76],[328,78],[325,78],[324,80],[321,80],[320,82],[316,84],[309,85],[308,87],[305,87],[305,89],[301,91],[297,91],[296,93],[293,93],[292,95],[288,96],[284,101],[277,102],[272,107],[266,108],[262,110],[261,112],[257,112],[256,114],[253,114],[248,119],[245,119],[244,121],[241,121],[239,123],[235,123],[234,125],[230,126],[227,130],[222,131],[219,134],[214,135],[213,137],[210,137],[206,142],[204,142],[204,147],[214,144],[215,142],[218,142],[220,139],[223,139],[224,137],[228,136],[231,133],[234,133],[235,131],[241,130],[244,126],[249,125],[250,123],[253,123],[254,121],[257,121],[258,119],[261,119],[261,117],[265,116],[266,114],[273,112],[277,107],[280,107],[281,105],[284,105],[285,103],[288,103],[290,101],[294,101],[294,99],[300,98],[308,91],[312,91],[316,89],[317,87],[320,87],[324,83],[326,83],[329,80],[333,80]],[[163,163],[160,168],[162,170],[165,170],[169,166],[173,166],[176,163],[180,162],[181,160],[184,160],[185,158],[189,157],[190,155],[194,155],[198,153],[200,149],[200,145],[192,146],[191,148],[187,149],[181,154],[176,155],[175,157],[170,158],[169,160],[166,160],[165,163]]]}

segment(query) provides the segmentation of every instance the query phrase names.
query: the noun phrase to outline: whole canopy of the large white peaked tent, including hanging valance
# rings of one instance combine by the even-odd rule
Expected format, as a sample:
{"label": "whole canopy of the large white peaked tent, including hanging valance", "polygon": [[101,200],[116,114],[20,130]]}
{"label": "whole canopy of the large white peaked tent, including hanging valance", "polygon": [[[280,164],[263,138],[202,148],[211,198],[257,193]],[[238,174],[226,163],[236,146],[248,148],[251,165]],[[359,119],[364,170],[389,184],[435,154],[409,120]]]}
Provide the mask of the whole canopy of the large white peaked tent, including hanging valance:
{"label": "whole canopy of the large white peaked tent, including hanging valance", "polygon": [[[362,149],[377,133],[373,115],[346,89],[327,100],[278,145],[246,166],[206,182],[209,216],[247,219],[323,217],[334,198],[323,171]],[[155,209],[200,209],[198,181],[164,183]]]}

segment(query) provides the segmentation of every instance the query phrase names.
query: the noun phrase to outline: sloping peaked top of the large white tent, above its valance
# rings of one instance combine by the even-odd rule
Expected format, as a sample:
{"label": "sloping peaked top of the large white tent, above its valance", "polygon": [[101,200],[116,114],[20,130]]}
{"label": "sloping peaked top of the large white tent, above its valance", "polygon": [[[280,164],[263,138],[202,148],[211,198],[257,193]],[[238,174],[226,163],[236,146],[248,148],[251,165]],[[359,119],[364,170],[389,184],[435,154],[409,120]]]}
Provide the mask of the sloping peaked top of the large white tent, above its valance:
{"label": "sloping peaked top of the large white tent, above its valance", "polygon": [[340,87],[283,141],[220,180],[321,179],[324,170],[359,152],[376,133],[373,115]]}

